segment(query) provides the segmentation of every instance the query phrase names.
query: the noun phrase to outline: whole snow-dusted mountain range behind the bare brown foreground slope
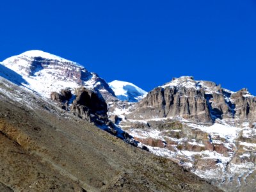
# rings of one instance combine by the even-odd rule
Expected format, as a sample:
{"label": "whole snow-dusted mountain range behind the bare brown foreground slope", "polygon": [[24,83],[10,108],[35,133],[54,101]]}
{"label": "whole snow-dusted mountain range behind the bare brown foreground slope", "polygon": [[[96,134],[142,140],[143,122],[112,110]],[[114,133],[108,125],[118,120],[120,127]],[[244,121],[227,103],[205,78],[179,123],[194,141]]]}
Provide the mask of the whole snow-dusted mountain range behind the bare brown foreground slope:
{"label": "whole snow-dusted mountain range behind the bare brown foreground slope", "polygon": [[172,159],[225,191],[256,189],[256,97],[246,88],[231,92],[184,76],[147,93],[124,81],[108,84],[83,66],[43,51],[4,60],[0,76],[0,96],[7,100],[33,109],[36,98],[51,111],[56,108],[51,98],[72,112],[68,115]]}

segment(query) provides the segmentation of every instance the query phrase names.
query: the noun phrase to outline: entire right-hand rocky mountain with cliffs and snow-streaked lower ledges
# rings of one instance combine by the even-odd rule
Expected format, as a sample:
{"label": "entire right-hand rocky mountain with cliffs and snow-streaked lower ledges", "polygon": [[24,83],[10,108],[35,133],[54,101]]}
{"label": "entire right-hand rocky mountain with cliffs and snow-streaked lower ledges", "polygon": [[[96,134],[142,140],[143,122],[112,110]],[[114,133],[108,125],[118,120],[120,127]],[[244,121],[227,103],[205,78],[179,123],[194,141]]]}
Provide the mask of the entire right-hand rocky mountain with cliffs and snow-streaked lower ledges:
{"label": "entire right-hand rocky mountain with cliffs and snow-streaked lower ledges", "polygon": [[109,116],[159,156],[177,161],[224,191],[254,191],[256,97],[193,77],[173,78]]}

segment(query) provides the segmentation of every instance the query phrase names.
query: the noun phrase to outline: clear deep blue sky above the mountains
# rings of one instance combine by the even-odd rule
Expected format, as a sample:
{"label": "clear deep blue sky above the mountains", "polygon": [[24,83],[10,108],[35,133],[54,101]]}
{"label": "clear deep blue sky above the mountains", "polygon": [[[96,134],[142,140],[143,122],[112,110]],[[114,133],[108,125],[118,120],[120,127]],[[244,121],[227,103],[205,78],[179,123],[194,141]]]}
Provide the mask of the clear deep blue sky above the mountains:
{"label": "clear deep blue sky above the mountains", "polygon": [[1,1],[0,60],[31,49],[149,91],[194,76],[256,95],[256,1]]}

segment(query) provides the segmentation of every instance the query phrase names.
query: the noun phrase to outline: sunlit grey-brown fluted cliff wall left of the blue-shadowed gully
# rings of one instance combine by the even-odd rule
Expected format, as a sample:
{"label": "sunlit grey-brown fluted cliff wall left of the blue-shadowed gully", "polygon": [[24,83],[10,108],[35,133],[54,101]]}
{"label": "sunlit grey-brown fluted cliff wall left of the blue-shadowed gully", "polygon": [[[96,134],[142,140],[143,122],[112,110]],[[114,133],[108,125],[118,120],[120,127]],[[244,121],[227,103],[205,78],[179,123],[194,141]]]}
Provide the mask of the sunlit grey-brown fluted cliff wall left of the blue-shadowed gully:
{"label": "sunlit grey-brown fluted cliff wall left of the blue-shadowed gully", "polygon": [[139,104],[137,114],[144,118],[182,116],[200,122],[211,122],[204,90],[192,88],[156,88]]}

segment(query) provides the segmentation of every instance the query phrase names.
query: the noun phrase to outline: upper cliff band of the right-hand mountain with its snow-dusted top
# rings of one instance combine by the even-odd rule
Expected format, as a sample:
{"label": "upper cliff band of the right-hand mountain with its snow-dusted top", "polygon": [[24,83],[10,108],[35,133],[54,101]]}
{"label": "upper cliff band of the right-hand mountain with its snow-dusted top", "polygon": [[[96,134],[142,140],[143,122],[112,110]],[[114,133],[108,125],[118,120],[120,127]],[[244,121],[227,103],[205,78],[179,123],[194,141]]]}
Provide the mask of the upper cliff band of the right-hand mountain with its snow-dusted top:
{"label": "upper cliff band of the right-hand mountain with its snow-dusted top", "polygon": [[256,99],[248,90],[230,92],[209,81],[180,77],[148,93],[127,117],[136,119],[180,116],[212,124],[217,118],[236,125],[255,122]]}

